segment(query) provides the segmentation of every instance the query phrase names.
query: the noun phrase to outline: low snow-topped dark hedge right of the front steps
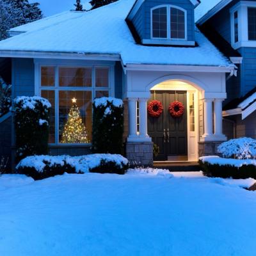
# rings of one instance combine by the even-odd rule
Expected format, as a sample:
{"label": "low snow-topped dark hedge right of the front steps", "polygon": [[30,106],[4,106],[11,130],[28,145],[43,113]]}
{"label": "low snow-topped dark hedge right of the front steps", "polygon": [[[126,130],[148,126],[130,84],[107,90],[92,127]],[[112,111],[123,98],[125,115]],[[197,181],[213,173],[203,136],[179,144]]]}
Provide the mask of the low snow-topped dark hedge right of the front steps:
{"label": "low snow-topped dark hedge right of the front steps", "polygon": [[256,179],[256,160],[227,159],[218,156],[199,158],[199,164],[207,177]]}

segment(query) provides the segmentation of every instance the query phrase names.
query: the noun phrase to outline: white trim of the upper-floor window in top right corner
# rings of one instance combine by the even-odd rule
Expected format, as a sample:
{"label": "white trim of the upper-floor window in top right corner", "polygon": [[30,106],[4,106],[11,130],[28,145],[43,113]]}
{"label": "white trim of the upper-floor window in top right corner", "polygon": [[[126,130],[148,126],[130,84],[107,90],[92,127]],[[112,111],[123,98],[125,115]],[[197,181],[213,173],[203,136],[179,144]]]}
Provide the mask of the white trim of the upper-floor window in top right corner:
{"label": "white trim of the upper-floor window in top right corner", "polygon": [[[234,49],[240,47],[256,47],[256,40],[248,40],[248,8],[256,8],[256,2],[240,1],[230,9],[231,45]],[[238,13],[238,42],[234,36],[234,13]]]}

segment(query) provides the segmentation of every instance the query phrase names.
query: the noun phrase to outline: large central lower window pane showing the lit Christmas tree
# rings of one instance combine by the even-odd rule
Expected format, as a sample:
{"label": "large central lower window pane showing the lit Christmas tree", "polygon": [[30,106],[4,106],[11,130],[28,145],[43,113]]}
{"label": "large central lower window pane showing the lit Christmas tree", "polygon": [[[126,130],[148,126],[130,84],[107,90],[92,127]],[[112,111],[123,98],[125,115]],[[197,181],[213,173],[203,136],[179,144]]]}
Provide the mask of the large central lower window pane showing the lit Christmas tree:
{"label": "large central lower window pane showing the lit Christmas tree", "polygon": [[60,91],[59,93],[60,143],[90,143],[92,92]]}

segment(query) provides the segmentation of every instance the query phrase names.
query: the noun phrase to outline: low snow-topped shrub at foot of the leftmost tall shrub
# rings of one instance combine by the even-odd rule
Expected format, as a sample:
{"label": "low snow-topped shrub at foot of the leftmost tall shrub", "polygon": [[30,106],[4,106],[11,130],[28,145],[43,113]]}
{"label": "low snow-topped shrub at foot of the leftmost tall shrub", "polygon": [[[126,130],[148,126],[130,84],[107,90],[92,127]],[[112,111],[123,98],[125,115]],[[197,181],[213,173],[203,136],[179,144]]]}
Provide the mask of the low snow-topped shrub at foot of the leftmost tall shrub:
{"label": "low snow-topped shrub at foot of the leftmost tall shrub", "polygon": [[76,173],[76,168],[67,156],[29,156],[20,161],[16,172],[41,180],[64,173]]}

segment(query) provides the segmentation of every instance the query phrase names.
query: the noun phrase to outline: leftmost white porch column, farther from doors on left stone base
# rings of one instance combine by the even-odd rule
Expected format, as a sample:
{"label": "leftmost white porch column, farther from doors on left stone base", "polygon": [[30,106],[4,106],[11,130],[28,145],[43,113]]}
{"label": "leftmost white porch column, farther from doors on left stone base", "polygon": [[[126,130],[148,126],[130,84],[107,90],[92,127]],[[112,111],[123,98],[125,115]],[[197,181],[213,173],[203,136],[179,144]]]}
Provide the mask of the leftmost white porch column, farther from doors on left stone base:
{"label": "leftmost white porch column, farther from doors on left stone base", "polygon": [[128,99],[128,111],[129,111],[129,137],[128,141],[134,141],[138,139],[137,134],[137,99]]}

